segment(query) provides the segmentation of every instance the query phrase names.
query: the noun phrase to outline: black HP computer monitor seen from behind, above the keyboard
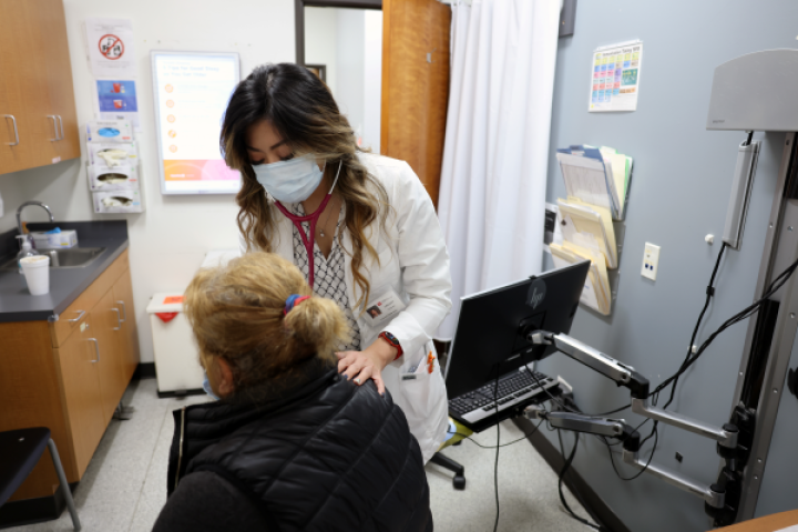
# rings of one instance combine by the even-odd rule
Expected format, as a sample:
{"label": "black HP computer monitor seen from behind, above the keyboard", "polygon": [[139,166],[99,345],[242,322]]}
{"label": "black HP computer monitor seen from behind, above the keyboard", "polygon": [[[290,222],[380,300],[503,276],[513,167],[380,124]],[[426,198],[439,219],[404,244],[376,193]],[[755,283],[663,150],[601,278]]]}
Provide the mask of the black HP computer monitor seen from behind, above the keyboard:
{"label": "black HP computer monitor seen from behind, above the keyboard", "polygon": [[444,375],[449,398],[552,355],[553,346],[532,345],[526,334],[570,331],[590,264],[584,260],[463,297]]}

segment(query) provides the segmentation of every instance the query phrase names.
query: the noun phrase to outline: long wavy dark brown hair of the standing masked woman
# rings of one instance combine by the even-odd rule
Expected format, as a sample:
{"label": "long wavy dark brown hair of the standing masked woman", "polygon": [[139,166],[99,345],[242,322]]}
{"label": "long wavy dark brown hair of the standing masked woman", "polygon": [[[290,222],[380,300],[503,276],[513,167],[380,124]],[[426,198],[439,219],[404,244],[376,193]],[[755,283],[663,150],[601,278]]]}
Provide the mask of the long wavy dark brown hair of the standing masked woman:
{"label": "long wavy dark brown hair of the standing masked woman", "polygon": [[385,229],[388,193],[358,160],[361,150],[355,141],[346,116],[338,110],[327,85],[313,72],[293,63],[265,64],[255,68],[231,96],[225,112],[219,145],[227,165],[242,173],[242,188],[236,196],[238,229],[247,249],[272,252],[275,235],[275,208],[255,178],[246,150],[247,129],[268,120],[295,155],[313,154],[327,161],[328,171],[342,162],[336,192],[346,208],[345,225],[352,242],[352,276],[360,288],[355,306],[365,307],[369,298],[368,279],[360,272],[364,249],[379,264],[377,250],[366,238],[365,228],[375,222]]}

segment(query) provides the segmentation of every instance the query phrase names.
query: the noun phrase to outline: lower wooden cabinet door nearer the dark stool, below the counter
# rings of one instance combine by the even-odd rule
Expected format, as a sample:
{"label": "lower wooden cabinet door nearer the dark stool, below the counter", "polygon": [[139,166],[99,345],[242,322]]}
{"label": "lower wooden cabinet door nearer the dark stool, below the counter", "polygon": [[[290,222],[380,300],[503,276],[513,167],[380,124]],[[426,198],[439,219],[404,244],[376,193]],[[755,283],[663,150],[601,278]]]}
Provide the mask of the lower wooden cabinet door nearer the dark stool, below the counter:
{"label": "lower wooden cabinet door nearer the dark stool, below the counter", "polygon": [[91,316],[86,315],[80,324],[80,330],[75,330],[55,349],[61,366],[78,478],[83,477],[108,424],[100,391],[99,350],[95,342],[89,340],[93,334],[94,324]]}

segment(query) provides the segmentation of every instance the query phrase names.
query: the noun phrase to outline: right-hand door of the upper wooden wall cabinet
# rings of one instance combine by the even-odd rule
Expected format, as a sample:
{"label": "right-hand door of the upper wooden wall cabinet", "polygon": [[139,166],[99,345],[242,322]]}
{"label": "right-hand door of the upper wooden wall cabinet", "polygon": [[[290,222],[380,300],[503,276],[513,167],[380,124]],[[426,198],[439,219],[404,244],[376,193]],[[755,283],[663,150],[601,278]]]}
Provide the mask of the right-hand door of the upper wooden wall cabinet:
{"label": "right-hand door of the upper wooden wall cabinet", "polygon": [[80,135],[72,86],[72,64],[66,45],[66,20],[62,0],[38,0],[40,8],[38,27],[48,35],[49,42],[63,43],[48,47],[42,66],[47,75],[50,109],[47,114],[59,117],[60,140],[50,143],[51,153],[45,163],[80,157]]}

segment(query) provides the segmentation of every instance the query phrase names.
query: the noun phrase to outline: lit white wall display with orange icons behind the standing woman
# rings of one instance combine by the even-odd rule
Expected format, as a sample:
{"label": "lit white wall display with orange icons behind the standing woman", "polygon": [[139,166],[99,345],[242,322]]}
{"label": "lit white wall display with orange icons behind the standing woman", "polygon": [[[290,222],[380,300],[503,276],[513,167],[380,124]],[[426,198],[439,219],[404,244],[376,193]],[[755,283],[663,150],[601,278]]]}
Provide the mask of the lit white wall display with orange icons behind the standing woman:
{"label": "lit white wall display with orange icons behind the standing woman", "polygon": [[163,194],[235,194],[241,175],[219,153],[227,102],[241,81],[237,53],[152,52]]}

